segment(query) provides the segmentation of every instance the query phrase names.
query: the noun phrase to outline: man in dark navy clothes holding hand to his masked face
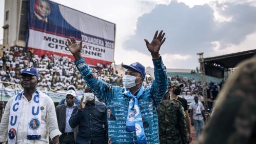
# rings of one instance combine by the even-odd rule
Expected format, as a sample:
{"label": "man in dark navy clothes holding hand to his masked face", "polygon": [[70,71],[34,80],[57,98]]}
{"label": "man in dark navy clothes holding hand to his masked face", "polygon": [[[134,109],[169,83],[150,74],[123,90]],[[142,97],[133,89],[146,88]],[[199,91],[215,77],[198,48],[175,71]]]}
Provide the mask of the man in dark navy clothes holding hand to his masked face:
{"label": "man in dark navy clothes holding hand to his masked face", "polygon": [[[85,102],[83,102],[84,97]],[[71,128],[79,127],[76,144],[108,143],[107,107],[102,102],[95,100],[94,93],[88,86],[85,87],[80,107],[74,109],[69,124]]]}

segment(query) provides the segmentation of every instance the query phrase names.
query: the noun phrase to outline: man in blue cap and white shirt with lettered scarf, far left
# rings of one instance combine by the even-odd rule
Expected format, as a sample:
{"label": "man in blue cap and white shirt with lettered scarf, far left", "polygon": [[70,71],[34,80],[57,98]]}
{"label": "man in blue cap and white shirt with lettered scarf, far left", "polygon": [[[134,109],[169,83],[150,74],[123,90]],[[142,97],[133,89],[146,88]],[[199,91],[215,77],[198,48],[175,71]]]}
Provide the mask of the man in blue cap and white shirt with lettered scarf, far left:
{"label": "man in blue cap and white shirt with lettered scarf, far left", "polygon": [[[24,91],[10,98],[0,124],[0,143],[58,143],[57,118],[52,99],[36,90],[39,74],[35,68],[21,73]],[[37,127],[33,126],[36,121]],[[35,122],[34,122],[35,123]]]}

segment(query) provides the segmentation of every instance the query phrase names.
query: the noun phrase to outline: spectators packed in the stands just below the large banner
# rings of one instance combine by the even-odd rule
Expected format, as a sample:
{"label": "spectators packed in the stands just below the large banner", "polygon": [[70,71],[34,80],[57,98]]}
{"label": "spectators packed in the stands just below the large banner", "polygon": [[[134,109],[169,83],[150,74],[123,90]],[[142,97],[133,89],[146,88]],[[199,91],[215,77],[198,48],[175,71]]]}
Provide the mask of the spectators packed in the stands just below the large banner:
{"label": "spectators packed in the stands just below the large banner", "polygon": [[[20,84],[19,74],[26,67],[37,68],[40,74],[38,87],[45,90],[66,90],[74,85],[78,90],[84,89],[84,79],[69,57],[42,55],[39,57],[33,50],[25,52],[23,48],[14,47],[10,50],[3,48],[0,57],[0,80]],[[114,86],[122,86],[122,77],[112,65],[97,64],[92,68],[95,76]],[[5,84],[7,85],[7,84]]]}

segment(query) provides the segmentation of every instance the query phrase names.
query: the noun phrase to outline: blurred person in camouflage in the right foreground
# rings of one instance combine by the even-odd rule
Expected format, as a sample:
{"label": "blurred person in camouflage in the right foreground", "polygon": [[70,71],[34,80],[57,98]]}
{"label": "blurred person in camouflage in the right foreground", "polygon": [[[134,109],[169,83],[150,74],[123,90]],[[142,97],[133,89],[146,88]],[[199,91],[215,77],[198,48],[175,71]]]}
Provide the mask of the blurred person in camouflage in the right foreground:
{"label": "blurred person in camouflage in the right foreground", "polygon": [[256,56],[237,67],[218,96],[200,144],[256,143]]}

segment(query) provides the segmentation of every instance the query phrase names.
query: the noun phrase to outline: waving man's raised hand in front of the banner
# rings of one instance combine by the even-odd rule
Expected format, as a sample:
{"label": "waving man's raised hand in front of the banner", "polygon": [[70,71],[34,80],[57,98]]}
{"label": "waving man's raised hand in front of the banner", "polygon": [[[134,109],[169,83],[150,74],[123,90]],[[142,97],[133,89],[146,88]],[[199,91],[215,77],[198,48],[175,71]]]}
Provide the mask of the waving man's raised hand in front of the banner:
{"label": "waving man's raised hand in front of the banner", "polygon": [[[70,40],[69,40],[70,39]],[[78,45],[76,43],[75,38],[72,36],[69,37],[68,40],[68,44],[65,43],[65,45],[68,47],[68,49],[70,50],[70,52],[73,54],[75,59],[78,59],[81,57],[81,49],[82,49],[82,41],[80,42],[80,44]]]}

